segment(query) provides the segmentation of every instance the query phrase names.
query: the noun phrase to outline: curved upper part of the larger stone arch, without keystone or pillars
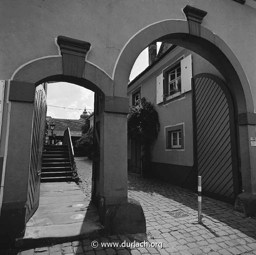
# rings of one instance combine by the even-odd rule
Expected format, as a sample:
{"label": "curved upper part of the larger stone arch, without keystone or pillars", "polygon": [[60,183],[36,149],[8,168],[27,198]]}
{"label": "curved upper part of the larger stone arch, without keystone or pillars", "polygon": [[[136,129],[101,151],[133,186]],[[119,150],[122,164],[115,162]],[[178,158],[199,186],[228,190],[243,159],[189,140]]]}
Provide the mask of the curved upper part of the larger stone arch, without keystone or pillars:
{"label": "curved upper part of the larger stone arch, without keystone or pillars", "polygon": [[122,83],[128,81],[138,55],[150,43],[158,40],[169,41],[201,55],[213,64],[226,80],[233,81],[238,78],[235,96],[239,111],[253,112],[250,84],[234,52],[218,35],[203,26],[200,37],[189,34],[189,23],[186,20],[162,20],[146,26],[131,37],[121,50],[113,70],[115,95],[126,93]]}

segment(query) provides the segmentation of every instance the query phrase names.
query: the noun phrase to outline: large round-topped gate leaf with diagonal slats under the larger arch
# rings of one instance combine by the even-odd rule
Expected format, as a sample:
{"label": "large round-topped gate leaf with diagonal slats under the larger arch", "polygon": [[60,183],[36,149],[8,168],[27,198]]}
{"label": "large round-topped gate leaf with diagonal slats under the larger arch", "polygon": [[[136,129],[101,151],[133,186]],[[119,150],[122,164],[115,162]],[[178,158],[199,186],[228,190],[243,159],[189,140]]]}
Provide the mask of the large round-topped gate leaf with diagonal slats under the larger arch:
{"label": "large round-topped gate leaf with diagonal slats under the larger arch", "polygon": [[234,108],[226,85],[215,75],[193,78],[195,166],[202,193],[234,203],[239,194]]}

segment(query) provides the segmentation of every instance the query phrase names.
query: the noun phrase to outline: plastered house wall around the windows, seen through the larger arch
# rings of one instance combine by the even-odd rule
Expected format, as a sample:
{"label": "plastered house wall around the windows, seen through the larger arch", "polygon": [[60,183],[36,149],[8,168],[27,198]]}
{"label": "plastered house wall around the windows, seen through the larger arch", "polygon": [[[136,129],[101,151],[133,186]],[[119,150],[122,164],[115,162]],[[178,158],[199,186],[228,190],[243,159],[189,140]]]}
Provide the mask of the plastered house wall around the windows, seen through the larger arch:
{"label": "plastered house wall around the windows, seen through the larger arch", "polygon": [[[160,131],[156,142],[152,146],[152,161],[173,165],[193,165],[193,125],[192,125],[192,92],[185,93],[185,97],[172,101],[169,104],[156,104],[157,89],[156,77],[163,69],[171,65],[178,58],[192,54],[192,74],[209,72],[224,80],[222,75],[208,61],[187,49],[175,49],[170,52],[157,67],[148,70],[139,80],[128,88],[127,95],[131,102],[131,93],[141,86],[141,96],[154,103],[159,115]],[[165,64],[162,64],[165,63]],[[147,77],[146,77],[147,76]],[[144,78],[146,77],[146,78]],[[184,123],[184,150],[166,150],[165,127]]]}

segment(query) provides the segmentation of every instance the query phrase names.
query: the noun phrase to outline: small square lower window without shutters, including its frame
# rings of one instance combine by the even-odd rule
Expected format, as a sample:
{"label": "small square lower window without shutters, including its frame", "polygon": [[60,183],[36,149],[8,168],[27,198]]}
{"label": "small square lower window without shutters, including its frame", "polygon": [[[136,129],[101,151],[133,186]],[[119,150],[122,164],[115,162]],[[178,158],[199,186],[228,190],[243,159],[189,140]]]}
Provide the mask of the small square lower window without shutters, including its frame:
{"label": "small square lower window without shutters, including its frame", "polygon": [[184,149],[183,125],[166,127],[166,149]]}

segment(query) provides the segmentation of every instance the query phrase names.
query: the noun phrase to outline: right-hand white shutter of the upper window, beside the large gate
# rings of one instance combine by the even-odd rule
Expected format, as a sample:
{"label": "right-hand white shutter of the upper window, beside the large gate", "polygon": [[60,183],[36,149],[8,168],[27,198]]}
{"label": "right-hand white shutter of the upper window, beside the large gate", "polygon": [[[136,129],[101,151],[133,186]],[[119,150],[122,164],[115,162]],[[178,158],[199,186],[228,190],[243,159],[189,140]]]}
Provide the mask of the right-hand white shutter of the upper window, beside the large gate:
{"label": "right-hand white shutter of the upper window, beside the large gate", "polygon": [[181,93],[191,90],[192,55],[188,55],[180,61],[181,67]]}

